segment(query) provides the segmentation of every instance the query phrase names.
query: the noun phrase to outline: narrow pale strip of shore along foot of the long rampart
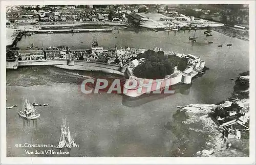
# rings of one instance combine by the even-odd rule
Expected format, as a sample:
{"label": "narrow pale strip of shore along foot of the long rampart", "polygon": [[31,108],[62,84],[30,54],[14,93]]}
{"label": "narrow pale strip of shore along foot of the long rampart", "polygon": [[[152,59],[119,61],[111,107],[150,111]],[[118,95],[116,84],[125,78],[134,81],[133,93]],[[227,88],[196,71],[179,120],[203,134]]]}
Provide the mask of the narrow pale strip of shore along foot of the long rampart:
{"label": "narrow pale strip of shore along foot of the long rampart", "polygon": [[98,72],[104,72],[104,73],[111,73],[111,74],[117,74],[120,76],[125,76],[124,73],[118,71],[118,70],[113,70],[113,69],[108,69],[108,68],[102,68],[98,66],[81,66],[81,65],[74,65],[74,66],[69,66],[69,65],[54,65],[55,67],[58,68],[63,68],[63,69],[70,69],[70,70],[86,70],[86,71],[98,71]]}

